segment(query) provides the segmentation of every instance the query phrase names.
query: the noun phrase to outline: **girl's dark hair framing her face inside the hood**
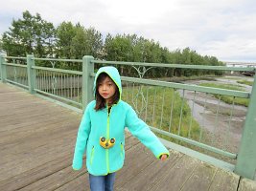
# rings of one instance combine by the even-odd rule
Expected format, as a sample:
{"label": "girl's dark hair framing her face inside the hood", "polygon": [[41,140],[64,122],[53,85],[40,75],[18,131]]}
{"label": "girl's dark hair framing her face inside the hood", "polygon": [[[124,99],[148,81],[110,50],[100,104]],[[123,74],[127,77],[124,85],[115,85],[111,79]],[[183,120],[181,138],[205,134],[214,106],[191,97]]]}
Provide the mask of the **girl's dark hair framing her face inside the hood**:
{"label": "girl's dark hair framing her face inside the hood", "polygon": [[[111,79],[111,77],[108,74],[102,73],[102,74],[99,74],[99,76],[97,77],[97,80],[96,80],[96,89],[95,89],[96,105],[95,105],[95,108],[94,108],[96,111],[99,111],[99,110],[105,108],[105,98],[102,97],[99,94],[99,91],[98,91],[99,84],[105,80],[105,77],[109,77]],[[112,103],[111,104],[117,103],[119,98],[120,98],[119,89],[118,89],[118,87],[117,87],[117,85],[114,81],[113,81],[113,83],[114,83],[116,91],[115,91],[115,94],[112,96]]]}

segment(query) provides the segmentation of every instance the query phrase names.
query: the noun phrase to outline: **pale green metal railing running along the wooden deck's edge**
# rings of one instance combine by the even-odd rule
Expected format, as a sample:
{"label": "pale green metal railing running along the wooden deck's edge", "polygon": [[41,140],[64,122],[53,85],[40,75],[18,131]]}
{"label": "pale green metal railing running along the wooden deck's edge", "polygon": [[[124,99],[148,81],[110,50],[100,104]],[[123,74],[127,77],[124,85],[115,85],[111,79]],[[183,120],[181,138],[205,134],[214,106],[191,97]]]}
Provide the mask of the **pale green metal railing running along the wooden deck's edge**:
{"label": "pale green metal railing running along the wooden deck's edge", "polygon": [[[38,66],[41,62],[51,63],[52,67]],[[59,69],[56,67],[58,62],[81,64],[81,71]],[[196,155],[199,159],[218,163],[221,167],[254,179],[256,171],[256,83],[253,84],[252,92],[249,93],[143,78],[145,73],[156,67],[214,71],[255,71],[254,68],[102,61],[95,60],[92,56],[83,56],[81,60],[35,58],[33,55],[1,56],[0,78],[2,82],[25,88],[31,94],[47,96],[84,110],[87,103],[93,99],[94,70],[102,65],[128,66],[138,72],[139,77],[122,76],[124,90],[122,97],[133,106],[139,117],[144,119],[160,138],[183,145],[181,152],[186,150],[191,154],[194,150],[198,150],[199,153],[197,152]],[[211,105],[213,95],[219,97],[215,106]],[[221,107],[224,104],[221,102],[221,96],[230,96],[232,99],[232,103],[226,106],[229,108],[229,114],[226,117],[225,127],[219,124]],[[239,147],[239,150],[228,146],[229,142],[232,142],[230,132],[234,130],[234,100],[238,97],[250,98],[243,135],[239,145],[234,146],[234,148]],[[194,119],[198,113],[195,110],[197,104],[201,107],[200,116],[203,120],[198,127]],[[188,109],[189,105],[190,109]],[[214,111],[211,114],[215,121],[212,131],[207,129],[207,123],[204,121],[206,117],[209,117],[206,113],[209,107]],[[187,114],[188,111],[189,114]],[[184,147],[193,150],[188,151]],[[200,154],[205,151],[207,155]],[[208,158],[209,155],[218,159]],[[230,161],[234,161],[235,164]]]}

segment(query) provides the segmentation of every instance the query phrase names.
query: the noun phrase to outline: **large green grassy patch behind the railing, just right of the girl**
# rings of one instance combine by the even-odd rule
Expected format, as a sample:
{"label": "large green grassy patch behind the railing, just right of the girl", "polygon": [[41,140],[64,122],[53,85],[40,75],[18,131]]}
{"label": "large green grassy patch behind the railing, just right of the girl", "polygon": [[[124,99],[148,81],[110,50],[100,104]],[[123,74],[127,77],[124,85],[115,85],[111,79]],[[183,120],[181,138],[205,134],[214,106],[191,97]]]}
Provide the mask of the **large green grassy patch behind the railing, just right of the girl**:
{"label": "large green grassy patch behind the railing, just right of the girl", "polygon": [[[171,117],[173,99],[173,114]],[[182,117],[180,123],[182,98],[177,92],[174,92],[173,89],[153,86],[125,87],[123,91],[123,100],[132,105],[134,109],[137,108],[139,117],[146,121],[150,126],[162,129],[167,132],[169,132],[170,128],[171,133],[180,135],[185,138],[199,138],[198,122],[193,117],[191,117],[191,109],[186,100],[183,101]],[[171,120],[172,124],[170,127]],[[178,142],[173,138],[162,136],[160,134],[157,134],[157,136]]]}

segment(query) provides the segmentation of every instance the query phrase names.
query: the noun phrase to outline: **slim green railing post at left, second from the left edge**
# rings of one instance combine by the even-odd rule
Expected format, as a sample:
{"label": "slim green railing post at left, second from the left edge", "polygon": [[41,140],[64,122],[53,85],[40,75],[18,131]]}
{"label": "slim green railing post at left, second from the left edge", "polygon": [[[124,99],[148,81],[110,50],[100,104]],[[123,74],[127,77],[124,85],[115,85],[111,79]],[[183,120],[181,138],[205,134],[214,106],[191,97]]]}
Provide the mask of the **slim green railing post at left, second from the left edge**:
{"label": "slim green railing post at left, second from the left edge", "polygon": [[35,94],[35,70],[32,68],[35,66],[34,55],[27,55],[27,72],[28,72],[28,84],[29,92]]}

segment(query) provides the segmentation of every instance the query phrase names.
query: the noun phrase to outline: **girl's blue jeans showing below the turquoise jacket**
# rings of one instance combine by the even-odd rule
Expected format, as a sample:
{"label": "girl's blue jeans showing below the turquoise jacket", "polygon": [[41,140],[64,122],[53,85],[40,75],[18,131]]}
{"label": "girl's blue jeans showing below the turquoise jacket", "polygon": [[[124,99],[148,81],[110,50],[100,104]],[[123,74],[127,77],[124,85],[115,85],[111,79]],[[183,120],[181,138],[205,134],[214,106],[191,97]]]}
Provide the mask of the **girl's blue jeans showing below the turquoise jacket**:
{"label": "girl's blue jeans showing below the turquoise jacket", "polygon": [[113,191],[115,173],[110,173],[105,176],[93,176],[89,174],[91,191]]}

